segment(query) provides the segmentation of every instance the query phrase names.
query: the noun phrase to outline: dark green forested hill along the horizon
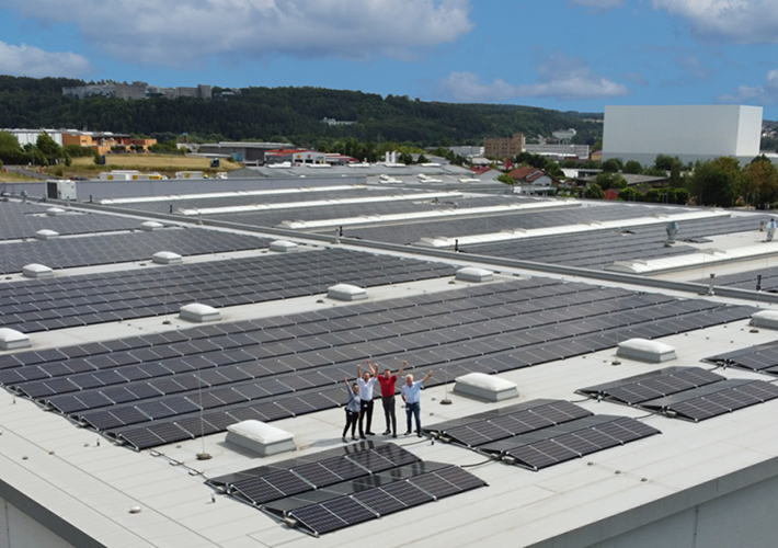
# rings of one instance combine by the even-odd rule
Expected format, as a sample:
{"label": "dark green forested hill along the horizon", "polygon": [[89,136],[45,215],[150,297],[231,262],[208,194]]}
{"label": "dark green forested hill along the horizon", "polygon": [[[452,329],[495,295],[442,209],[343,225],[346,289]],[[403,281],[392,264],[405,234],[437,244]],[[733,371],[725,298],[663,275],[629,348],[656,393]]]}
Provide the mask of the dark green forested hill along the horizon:
{"label": "dark green forested hill along the horizon", "polygon": [[[579,132],[575,142],[592,144],[602,135],[602,124],[584,122],[602,115],[423,102],[321,88],[245,88],[239,95],[211,101],[62,96],[62,87],[83,83],[66,78],[0,76],[0,127],[88,128],[160,139],[188,133],[209,140],[285,140],[306,146],[344,137],[420,146],[477,145],[484,136],[550,136],[571,127]],[[330,126],[321,122],[323,117],[356,124]]]}

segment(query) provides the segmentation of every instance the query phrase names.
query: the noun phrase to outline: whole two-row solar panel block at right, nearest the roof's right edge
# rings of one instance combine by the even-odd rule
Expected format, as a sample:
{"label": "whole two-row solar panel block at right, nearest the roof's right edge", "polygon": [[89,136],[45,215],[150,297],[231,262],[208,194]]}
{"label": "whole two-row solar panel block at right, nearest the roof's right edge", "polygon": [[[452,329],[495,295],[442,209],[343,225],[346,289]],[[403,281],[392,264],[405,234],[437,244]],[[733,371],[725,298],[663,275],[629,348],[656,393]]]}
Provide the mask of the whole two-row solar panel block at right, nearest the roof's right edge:
{"label": "whole two-row solar panel block at right, nearest the roof's right edge", "polygon": [[778,386],[764,380],[728,380],[699,367],[670,367],[579,392],[699,422],[776,399]]}

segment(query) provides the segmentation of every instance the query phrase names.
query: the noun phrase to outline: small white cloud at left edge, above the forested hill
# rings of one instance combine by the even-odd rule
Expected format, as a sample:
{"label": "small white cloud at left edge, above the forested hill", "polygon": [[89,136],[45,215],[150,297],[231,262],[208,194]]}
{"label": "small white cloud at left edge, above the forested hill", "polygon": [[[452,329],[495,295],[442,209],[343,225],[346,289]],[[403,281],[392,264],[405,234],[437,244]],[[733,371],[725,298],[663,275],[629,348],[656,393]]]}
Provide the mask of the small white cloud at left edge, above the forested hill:
{"label": "small white cloud at left edge, above the forested hill", "polygon": [[46,52],[35,46],[0,42],[0,73],[11,76],[77,78],[93,70],[85,57],[71,52]]}

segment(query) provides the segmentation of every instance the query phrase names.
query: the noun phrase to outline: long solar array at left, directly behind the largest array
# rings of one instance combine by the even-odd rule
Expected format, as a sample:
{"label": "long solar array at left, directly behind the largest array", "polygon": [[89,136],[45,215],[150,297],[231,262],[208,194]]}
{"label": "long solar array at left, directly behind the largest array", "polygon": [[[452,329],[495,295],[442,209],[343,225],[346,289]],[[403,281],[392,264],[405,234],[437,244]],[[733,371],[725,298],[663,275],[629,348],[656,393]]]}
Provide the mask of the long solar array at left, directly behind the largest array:
{"label": "long solar array at left, directly behind the largest array", "polygon": [[178,312],[202,302],[221,308],[450,276],[454,267],[345,249],[169,265],[27,282],[0,282],[0,327],[25,333]]}

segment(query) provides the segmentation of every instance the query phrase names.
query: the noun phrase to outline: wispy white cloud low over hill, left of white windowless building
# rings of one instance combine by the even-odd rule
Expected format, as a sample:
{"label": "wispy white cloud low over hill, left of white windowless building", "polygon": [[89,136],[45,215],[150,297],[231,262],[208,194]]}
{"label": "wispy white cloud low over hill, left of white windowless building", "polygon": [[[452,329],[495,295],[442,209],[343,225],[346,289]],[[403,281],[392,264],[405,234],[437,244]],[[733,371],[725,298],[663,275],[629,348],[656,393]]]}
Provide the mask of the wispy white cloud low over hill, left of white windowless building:
{"label": "wispy white cloud low over hill, left of white windowless building", "polygon": [[536,83],[511,84],[497,79],[484,82],[472,72],[451,72],[439,84],[444,95],[459,102],[492,102],[518,98],[558,100],[607,99],[628,95],[630,90],[595,73],[586,60],[556,52],[540,62]]}

